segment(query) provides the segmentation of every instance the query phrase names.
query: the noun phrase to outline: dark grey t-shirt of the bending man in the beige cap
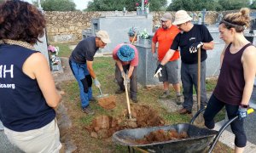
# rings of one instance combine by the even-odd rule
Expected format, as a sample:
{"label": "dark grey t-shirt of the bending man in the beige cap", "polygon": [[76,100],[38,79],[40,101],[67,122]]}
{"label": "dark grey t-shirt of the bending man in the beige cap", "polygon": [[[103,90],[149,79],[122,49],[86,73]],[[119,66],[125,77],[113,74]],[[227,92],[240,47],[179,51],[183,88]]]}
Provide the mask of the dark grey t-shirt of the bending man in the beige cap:
{"label": "dark grey t-shirt of the bending man in the beige cap", "polygon": [[98,50],[95,39],[96,37],[86,37],[79,42],[77,47],[73,49],[69,59],[79,64],[85,64],[86,60],[93,61],[93,56]]}

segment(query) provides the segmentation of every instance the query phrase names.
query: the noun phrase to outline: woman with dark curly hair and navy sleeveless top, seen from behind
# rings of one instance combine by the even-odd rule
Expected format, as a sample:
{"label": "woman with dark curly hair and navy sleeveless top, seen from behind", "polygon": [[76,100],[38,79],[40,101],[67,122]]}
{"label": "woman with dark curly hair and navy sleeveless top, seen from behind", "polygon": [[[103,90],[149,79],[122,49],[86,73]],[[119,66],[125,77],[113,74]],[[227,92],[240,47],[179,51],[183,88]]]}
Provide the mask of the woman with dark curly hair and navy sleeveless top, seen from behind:
{"label": "woman with dark curly hair and navy sleeveless top, seen from behind", "polygon": [[33,45],[44,15],[20,0],[0,5],[0,120],[9,141],[25,152],[59,152],[55,108],[61,101],[49,65]]}

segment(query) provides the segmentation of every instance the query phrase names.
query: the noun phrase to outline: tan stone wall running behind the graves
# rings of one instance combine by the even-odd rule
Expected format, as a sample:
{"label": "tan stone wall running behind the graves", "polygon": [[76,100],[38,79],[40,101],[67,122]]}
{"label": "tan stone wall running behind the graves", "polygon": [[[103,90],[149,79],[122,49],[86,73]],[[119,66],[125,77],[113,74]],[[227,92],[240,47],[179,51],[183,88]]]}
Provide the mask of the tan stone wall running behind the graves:
{"label": "tan stone wall running behind the graves", "polygon": [[[234,12],[234,11],[233,11]],[[82,31],[91,27],[90,20],[100,16],[123,15],[122,12],[57,12],[45,11],[47,20],[47,37],[49,42],[72,42],[82,39]],[[160,24],[160,17],[165,12],[151,12],[153,14],[153,25]],[[175,12],[170,12],[174,18]],[[191,14],[191,12],[188,12]],[[225,11],[223,14],[228,14]],[[199,14],[195,12],[195,14]],[[136,12],[128,12],[126,15],[136,15]],[[212,25],[218,17],[218,12],[208,11],[206,23]],[[197,20],[197,19],[195,19]]]}

